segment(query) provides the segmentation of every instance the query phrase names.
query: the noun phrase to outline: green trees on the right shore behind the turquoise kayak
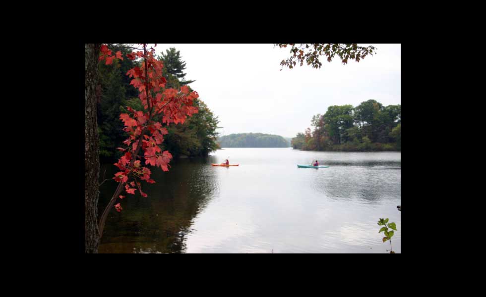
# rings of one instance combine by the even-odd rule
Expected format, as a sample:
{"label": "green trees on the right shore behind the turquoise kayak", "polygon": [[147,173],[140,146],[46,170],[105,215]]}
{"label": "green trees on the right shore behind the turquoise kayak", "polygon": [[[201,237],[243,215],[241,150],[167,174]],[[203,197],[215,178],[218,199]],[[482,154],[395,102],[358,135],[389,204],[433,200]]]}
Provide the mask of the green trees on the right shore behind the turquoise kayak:
{"label": "green trees on the right shore behind the turquoise kayak", "polygon": [[369,99],[360,105],[333,105],[314,115],[311,126],[292,139],[302,150],[401,151],[401,106]]}

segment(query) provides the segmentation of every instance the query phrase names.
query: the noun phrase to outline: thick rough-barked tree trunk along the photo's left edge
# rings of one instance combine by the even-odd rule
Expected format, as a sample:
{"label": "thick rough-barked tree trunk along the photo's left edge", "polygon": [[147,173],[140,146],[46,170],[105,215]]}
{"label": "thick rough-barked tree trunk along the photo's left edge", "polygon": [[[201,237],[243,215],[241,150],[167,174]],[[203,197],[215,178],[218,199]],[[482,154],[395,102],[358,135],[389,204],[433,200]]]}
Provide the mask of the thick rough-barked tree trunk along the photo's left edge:
{"label": "thick rough-barked tree trunk along the photo's left edge", "polygon": [[98,55],[100,44],[85,45],[85,252],[98,253],[98,195],[100,161],[98,123],[96,120],[96,86],[98,84]]}

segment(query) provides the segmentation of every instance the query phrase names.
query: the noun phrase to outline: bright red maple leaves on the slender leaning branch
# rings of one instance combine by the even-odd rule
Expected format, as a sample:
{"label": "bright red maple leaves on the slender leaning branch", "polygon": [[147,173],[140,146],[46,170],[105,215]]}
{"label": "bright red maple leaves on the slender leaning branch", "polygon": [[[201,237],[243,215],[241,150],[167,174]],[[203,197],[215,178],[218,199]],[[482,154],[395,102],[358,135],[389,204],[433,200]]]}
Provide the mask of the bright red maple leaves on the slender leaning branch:
{"label": "bright red maple leaves on the slender leaning branch", "polygon": [[[150,178],[151,171],[141,166],[141,161],[136,158],[145,159],[146,165],[160,167],[163,171],[169,171],[169,162],[172,154],[162,151],[159,145],[164,142],[163,135],[167,129],[164,126],[170,123],[184,123],[187,117],[197,113],[197,107],[192,106],[193,100],[198,98],[197,92],[189,92],[187,86],[182,86],[178,91],[173,88],[164,89],[167,80],[162,76],[163,63],[154,57],[155,49],[145,50],[146,44],[141,44],[144,51],[131,52],[126,54],[130,60],[142,58],[140,67],[134,67],[126,72],[126,75],[133,78],[130,82],[139,91],[138,98],[141,100],[143,110],[134,110],[127,107],[129,113],[121,113],[126,131],[130,136],[123,141],[126,148],[118,148],[126,151],[115,165],[120,172],[115,174],[115,181],[125,184],[125,191],[128,194],[135,194],[135,185],[140,195],[147,197],[140,188],[141,181],[149,184],[155,183]],[[100,49],[100,61],[106,59],[106,64],[112,64],[114,59],[123,59],[122,52],[117,51],[112,55],[112,50],[106,45]],[[139,145],[141,144],[140,148]],[[140,152],[143,150],[143,154]],[[133,179],[128,186],[128,180]],[[119,198],[124,198],[121,196]],[[120,203],[115,205],[117,211],[121,211]]]}

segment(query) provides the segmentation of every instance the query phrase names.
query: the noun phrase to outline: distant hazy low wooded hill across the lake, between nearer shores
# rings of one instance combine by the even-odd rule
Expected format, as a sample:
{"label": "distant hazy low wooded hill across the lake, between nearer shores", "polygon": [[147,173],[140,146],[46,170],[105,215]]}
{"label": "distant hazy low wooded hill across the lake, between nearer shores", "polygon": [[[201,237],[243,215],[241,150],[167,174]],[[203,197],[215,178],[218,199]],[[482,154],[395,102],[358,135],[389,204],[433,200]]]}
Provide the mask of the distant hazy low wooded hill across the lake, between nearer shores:
{"label": "distant hazy low wooded hill across the lake, between nearer shores", "polygon": [[221,148],[288,148],[282,136],[263,133],[230,134],[218,138]]}

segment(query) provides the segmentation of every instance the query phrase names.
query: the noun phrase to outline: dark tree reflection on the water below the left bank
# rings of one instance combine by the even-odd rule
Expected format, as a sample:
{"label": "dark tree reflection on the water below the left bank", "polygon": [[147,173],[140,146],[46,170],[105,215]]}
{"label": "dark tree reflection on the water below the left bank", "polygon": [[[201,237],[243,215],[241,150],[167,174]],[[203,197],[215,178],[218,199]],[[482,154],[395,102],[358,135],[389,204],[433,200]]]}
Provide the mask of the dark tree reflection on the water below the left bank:
{"label": "dark tree reflection on the water below the left bank", "polygon": [[[169,172],[152,170],[156,183],[142,184],[148,197],[140,197],[138,191],[125,195],[123,211],[110,212],[99,252],[185,252],[185,236],[192,232],[193,218],[218,194],[217,172],[207,166],[213,161],[211,157],[181,159],[171,162]],[[102,168],[106,168],[107,176],[115,173],[109,172],[111,166]],[[117,186],[114,182],[105,184],[100,189],[99,209],[108,203]]]}

